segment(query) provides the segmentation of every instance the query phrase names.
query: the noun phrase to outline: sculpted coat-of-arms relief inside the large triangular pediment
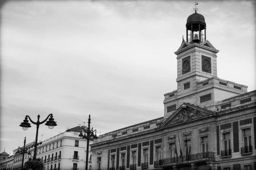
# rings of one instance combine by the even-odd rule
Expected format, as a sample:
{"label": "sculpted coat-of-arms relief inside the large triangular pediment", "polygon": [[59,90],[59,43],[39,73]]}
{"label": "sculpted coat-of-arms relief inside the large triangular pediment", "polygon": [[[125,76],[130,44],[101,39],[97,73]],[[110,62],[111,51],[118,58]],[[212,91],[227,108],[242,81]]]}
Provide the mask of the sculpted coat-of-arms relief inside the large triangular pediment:
{"label": "sculpted coat-of-arms relief inside the large triangular pediment", "polygon": [[180,112],[174,116],[174,118],[170,121],[169,124],[186,122],[187,120],[192,120],[204,116],[204,114],[199,110],[186,107],[186,105],[184,105],[183,107],[185,108],[181,109]]}

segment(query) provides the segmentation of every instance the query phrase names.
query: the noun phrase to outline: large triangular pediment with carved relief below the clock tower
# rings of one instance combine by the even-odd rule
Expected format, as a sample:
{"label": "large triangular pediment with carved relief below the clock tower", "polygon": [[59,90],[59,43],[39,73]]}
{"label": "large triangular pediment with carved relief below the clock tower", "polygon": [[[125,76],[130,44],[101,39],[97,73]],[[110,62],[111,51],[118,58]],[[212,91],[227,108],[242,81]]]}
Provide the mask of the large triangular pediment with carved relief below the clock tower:
{"label": "large triangular pediment with carved relief below the clock tower", "polygon": [[172,125],[176,123],[185,123],[187,121],[197,120],[209,115],[213,115],[215,112],[207,110],[198,106],[183,103],[179,108],[167,118],[160,127]]}

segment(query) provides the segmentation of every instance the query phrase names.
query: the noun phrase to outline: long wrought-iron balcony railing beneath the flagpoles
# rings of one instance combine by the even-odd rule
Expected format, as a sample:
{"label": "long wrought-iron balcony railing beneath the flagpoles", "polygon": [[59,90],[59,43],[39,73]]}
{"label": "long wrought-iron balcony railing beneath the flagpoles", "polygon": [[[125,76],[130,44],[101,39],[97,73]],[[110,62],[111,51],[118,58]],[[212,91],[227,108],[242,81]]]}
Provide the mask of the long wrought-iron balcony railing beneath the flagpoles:
{"label": "long wrought-iron balcony railing beneath the flagpoles", "polygon": [[[167,159],[161,159],[159,160],[159,166],[161,165],[168,165],[172,163],[182,163],[182,162],[188,162],[188,161],[198,161],[198,160],[204,160],[204,159],[215,159],[214,158],[214,152],[205,152],[205,153],[196,153],[192,155],[184,155],[184,156],[178,156],[174,158],[167,158]],[[157,162],[154,162],[154,166],[157,166]]]}

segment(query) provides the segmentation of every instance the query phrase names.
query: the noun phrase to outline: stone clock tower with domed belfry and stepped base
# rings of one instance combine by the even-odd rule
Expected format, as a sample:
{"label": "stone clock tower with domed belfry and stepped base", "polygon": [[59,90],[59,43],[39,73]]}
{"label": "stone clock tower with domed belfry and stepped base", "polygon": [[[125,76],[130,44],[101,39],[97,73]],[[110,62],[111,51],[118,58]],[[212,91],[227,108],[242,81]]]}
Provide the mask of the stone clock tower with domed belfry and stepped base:
{"label": "stone clock tower with domed belfry and stepped base", "polygon": [[247,86],[217,77],[219,50],[206,39],[205,18],[196,10],[187,18],[186,41],[174,52],[177,90],[164,94],[164,119],[184,102],[217,111],[217,102],[247,92]]}

